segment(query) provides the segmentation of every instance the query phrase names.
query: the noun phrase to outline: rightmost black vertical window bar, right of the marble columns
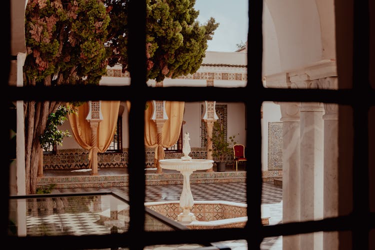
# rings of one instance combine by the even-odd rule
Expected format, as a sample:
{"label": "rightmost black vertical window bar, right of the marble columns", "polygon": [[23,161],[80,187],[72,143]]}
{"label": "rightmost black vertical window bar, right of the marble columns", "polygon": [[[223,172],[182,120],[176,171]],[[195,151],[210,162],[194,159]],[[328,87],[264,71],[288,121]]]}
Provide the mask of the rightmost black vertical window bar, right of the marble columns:
{"label": "rightmost black vertical window bar, right of the marble columns", "polygon": [[[361,219],[369,215],[368,108],[369,84],[369,1],[353,1],[353,249],[368,249],[368,227]],[[368,96],[370,97],[370,96]],[[368,220],[367,220],[368,221]]]}

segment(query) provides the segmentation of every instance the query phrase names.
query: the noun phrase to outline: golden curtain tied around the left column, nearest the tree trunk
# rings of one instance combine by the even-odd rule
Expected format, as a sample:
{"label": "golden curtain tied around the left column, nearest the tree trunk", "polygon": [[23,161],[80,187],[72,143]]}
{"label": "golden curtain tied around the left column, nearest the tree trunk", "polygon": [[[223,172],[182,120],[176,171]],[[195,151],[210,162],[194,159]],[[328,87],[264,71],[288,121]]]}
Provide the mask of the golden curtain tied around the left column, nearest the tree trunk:
{"label": "golden curtain tied around the left column, nearest the tree trunk", "polygon": [[[120,101],[100,101],[100,111],[103,119],[97,126],[97,151],[104,152],[113,140],[113,135],[116,130],[118,108]],[[88,167],[92,169],[92,149],[93,143],[91,141],[91,127],[86,120],[88,114],[88,102],[76,107],[76,114],[68,114],[70,127],[75,141],[84,149],[88,150]]]}

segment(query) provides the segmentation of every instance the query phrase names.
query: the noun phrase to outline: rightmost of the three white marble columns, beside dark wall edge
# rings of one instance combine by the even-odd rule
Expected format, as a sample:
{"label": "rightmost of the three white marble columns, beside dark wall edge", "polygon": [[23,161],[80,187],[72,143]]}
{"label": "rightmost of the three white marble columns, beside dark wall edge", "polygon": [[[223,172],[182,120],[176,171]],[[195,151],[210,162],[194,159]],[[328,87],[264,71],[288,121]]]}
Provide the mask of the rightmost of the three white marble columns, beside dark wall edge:
{"label": "rightmost of the three white marble columns, beside dark wall edge", "polygon": [[[337,78],[327,77],[323,87],[337,89]],[[323,217],[338,216],[338,104],[324,103]],[[338,249],[338,232],[323,233],[323,249]]]}

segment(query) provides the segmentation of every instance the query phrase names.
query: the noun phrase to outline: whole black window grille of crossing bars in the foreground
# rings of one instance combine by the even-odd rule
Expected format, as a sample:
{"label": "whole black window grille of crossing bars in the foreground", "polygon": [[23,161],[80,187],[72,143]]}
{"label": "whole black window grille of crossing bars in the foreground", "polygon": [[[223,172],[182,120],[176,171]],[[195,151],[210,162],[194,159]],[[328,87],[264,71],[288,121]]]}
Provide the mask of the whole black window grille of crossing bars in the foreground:
{"label": "whole black window grille of crossing bars in the foreground", "polygon": [[[225,239],[246,239],[249,249],[259,249],[260,242],[264,237],[278,235],[292,235],[299,233],[308,233],[314,231],[336,231],[349,230],[352,232],[352,245],[358,249],[368,248],[368,231],[373,227],[362,228],[358,223],[352,221],[362,221],[363,213],[371,215],[372,221],[374,214],[369,213],[368,204],[368,179],[362,178],[363,172],[368,172],[368,107],[375,105],[373,99],[373,89],[368,86],[368,54],[369,54],[369,22],[368,22],[368,5],[367,1],[353,1],[353,88],[352,89],[273,89],[264,88],[261,82],[261,61],[262,61],[262,5],[263,1],[250,1],[248,4],[248,13],[251,16],[248,35],[248,79],[245,87],[225,88],[218,87],[200,88],[200,87],[170,87],[166,91],[162,88],[150,89],[146,86],[145,72],[146,64],[145,55],[145,2],[129,1],[129,64],[135,70],[132,72],[131,85],[120,87],[103,87],[89,86],[56,86],[50,87],[12,87],[2,84],[6,91],[6,96],[2,99],[5,105],[2,105],[3,113],[8,114],[6,102],[10,100],[100,100],[100,99],[128,99],[132,103],[132,110],[129,113],[129,203],[130,203],[130,227],[128,232],[122,234],[108,235],[62,235],[62,236],[40,236],[40,237],[10,237],[7,235],[8,226],[8,208],[5,206],[3,213],[3,236],[6,242],[17,248],[25,244],[38,245],[39,249],[50,249],[50,246],[56,248],[76,247],[80,249],[90,248],[107,248],[113,245],[128,246],[130,249],[140,249],[150,244],[175,244],[175,243],[203,243],[221,241]],[[8,15],[4,14],[2,23],[4,25],[3,38],[8,41],[3,45],[5,56],[2,58],[11,58],[10,50],[10,1],[3,2],[3,8],[8,9]],[[365,30],[363,32],[363,30]],[[131,37],[131,38],[130,38]],[[9,39],[6,39],[9,38]],[[364,43],[363,44],[363,39]],[[136,52],[138,51],[138,52]],[[14,55],[13,55],[14,56]],[[364,58],[364,60],[362,60]],[[367,59],[367,60],[366,60]],[[8,59],[5,59],[8,60]],[[10,71],[10,63],[2,66],[3,81],[7,82]],[[367,77],[367,78],[366,78]],[[354,82],[355,80],[355,82]],[[360,82],[361,84],[355,84]],[[366,85],[367,84],[367,85]],[[361,86],[359,86],[361,85]],[[369,90],[370,89],[370,90]],[[134,93],[146,93],[137,95]],[[183,92],[181,95],[174,93]],[[370,92],[370,94],[368,93]],[[253,94],[251,94],[253,93]],[[352,96],[360,96],[361,103],[354,103]],[[201,100],[225,100],[225,101],[243,101],[246,105],[246,119],[249,122],[250,117],[258,117],[260,120],[260,106],[263,101],[318,101],[338,104],[349,104],[353,109],[353,158],[356,164],[361,167],[352,166],[353,170],[353,212],[347,216],[337,216],[328,219],[316,221],[304,221],[284,223],[277,225],[262,226],[260,222],[260,204],[261,204],[261,169],[252,167],[252,174],[246,175],[246,199],[251,199],[251,206],[247,206],[248,217],[247,224],[244,228],[221,228],[215,230],[187,230],[187,231],[165,231],[165,232],[146,232],[144,231],[144,169],[137,167],[137,162],[144,162],[144,144],[143,129],[139,124],[144,124],[143,107],[146,100],[184,100],[184,101],[201,101]],[[253,132],[247,133],[246,141],[251,143],[261,142],[260,122],[252,122]],[[361,129],[365,128],[365,129]],[[4,129],[3,141],[9,138],[8,130]],[[246,143],[247,144],[247,143]],[[250,144],[250,143],[248,143]],[[5,158],[11,155],[11,150],[5,148],[2,152]],[[254,147],[251,151],[251,166],[261,165],[260,147]],[[249,155],[246,155],[248,157]],[[250,158],[250,157],[248,157]],[[136,160],[132,160],[136,159]],[[246,169],[247,167],[246,162]],[[367,170],[367,171],[366,171]],[[9,194],[9,169],[4,170],[2,191],[5,196]],[[363,193],[364,191],[364,193]],[[141,195],[139,195],[141,194]],[[362,197],[361,197],[362,196]],[[367,202],[366,202],[367,200]],[[358,202],[356,202],[358,201]],[[252,233],[249,233],[252,232]],[[367,232],[367,233],[366,233]],[[142,241],[139,241],[139,238]]]}

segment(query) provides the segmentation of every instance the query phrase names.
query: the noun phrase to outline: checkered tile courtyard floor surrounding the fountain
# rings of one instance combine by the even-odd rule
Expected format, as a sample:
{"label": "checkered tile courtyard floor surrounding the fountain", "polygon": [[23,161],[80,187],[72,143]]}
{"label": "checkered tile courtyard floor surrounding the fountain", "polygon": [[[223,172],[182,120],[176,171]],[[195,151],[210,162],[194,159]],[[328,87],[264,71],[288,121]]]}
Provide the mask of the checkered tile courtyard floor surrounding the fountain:
{"label": "checkered tile courtyard floor surrounding the fountain", "polygon": [[[194,200],[226,200],[233,202],[246,202],[245,183],[204,183],[204,184],[190,184],[191,192]],[[281,222],[282,219],[282,188],[274,185],[272,182],[264,182],[262,187],[262,204],[269,208],[270,224]],[[75,188],[75,189],[61,189],[60,192],[85,192],[96,191],[97,188]],[[100,189],[101,191],[111,190],[120,191],[128,194],[128,187],[112,187],[107,189]],[[160,200],[179,200],[179,195],[182,191],[182,185],[147,185],[145,201],[160,201]],[[87,214],[66,215],[64,218],[44,217],[42,220],[35,218],[28,218],[27,227],[32,228],[35,223],[52,224],[51,226],[60,226],[61,230],[68,224],[71,227],[69,233],[86,234],[86,233],[108,233],[108,228],[103,225],[96,225],[94,222],[98,219],[94,215],[86,216]],[[80,225],[79,225],[80,223]],[[37,232],[35,232],[37,233]],[[244,250],[247,249],[246,240],[225,240],[215,242],[212,244],[221,244],[231,249]],[[169,250],[169,249],[193,249],[201,247],[196,244],[183,245],[154,245],[147,246],[145,250]],[[261,250],[281,250],[282,240],[279,237],[264,238],[260,245]]]}

